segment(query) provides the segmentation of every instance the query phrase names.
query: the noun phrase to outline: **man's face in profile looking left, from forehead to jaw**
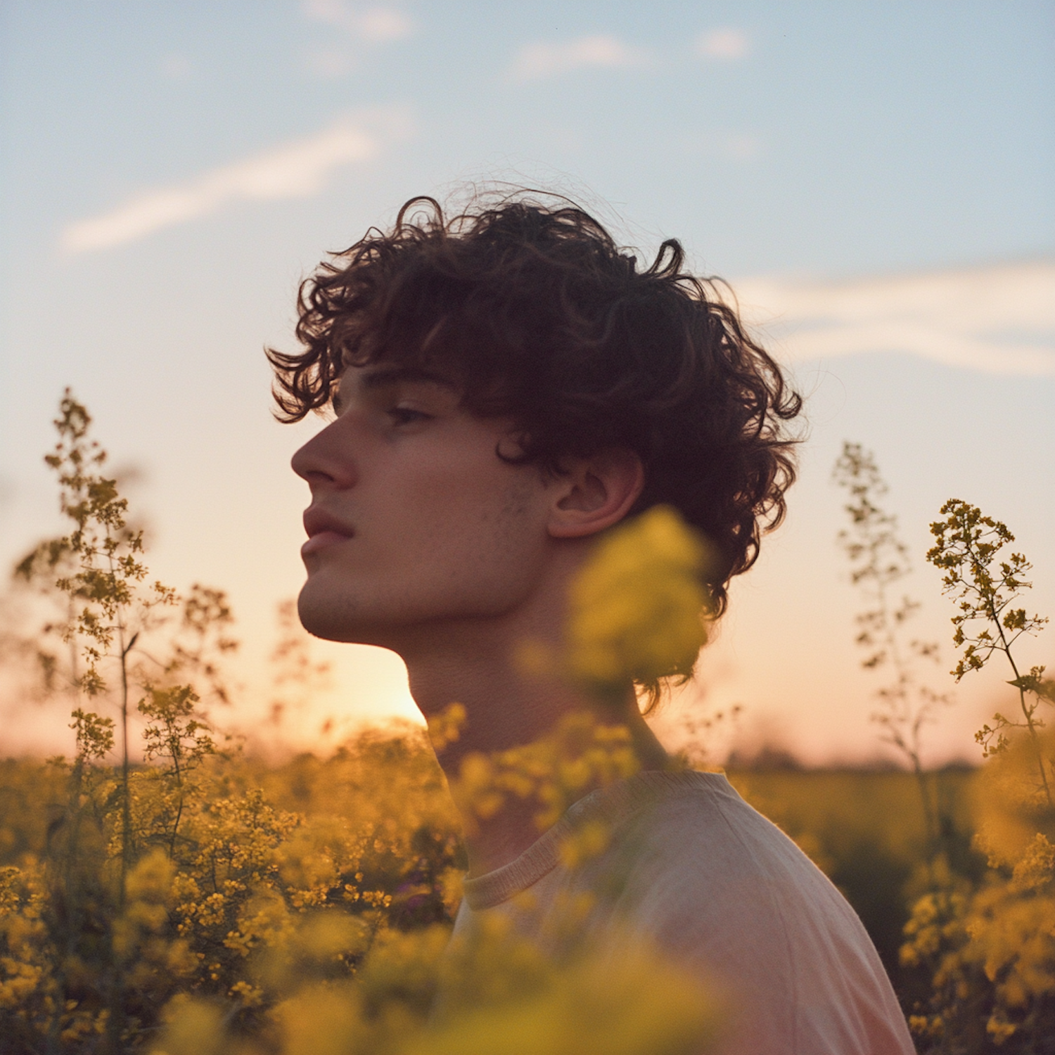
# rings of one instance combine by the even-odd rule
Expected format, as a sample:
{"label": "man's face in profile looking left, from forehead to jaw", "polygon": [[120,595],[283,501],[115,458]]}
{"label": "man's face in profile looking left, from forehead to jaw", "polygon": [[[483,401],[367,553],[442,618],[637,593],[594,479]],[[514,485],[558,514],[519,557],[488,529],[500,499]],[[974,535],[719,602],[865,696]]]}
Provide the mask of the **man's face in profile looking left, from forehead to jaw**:
{"label": "man's face in profile looking left, from forehead to jaw", "polygon": [[311,633],[397,648],[530,594],[546,487],[535,466],[498,457],[517,449],[509,421],[468,414],[442,378],[386,364],[349,367],[334,409],[292,460],[311,487],[299,601]]}

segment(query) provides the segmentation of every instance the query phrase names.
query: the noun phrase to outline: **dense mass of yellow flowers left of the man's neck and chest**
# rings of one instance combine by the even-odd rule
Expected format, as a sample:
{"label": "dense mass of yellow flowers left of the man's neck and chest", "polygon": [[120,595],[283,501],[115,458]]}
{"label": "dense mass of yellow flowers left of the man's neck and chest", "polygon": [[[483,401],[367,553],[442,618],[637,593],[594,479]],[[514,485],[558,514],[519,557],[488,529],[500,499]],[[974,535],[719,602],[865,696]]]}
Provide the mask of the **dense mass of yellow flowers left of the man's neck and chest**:
{"label": "dense mass of yellow flowers left of the man's neck and chest", "polygon": [[305,964],[348,981],[379,934],[445,934],[457,906],[454,810],[416,730],[284,766],[214,755],[178,786],[136,769],[123,869],[113,770],[79,763],[63,785],[53,766],[8,768],[37,791],[30,818],[0,818],[0,839],[24,846],[0,869],[0,1025],[20,1050],[147,1050],[176,998],[266,1033]]}

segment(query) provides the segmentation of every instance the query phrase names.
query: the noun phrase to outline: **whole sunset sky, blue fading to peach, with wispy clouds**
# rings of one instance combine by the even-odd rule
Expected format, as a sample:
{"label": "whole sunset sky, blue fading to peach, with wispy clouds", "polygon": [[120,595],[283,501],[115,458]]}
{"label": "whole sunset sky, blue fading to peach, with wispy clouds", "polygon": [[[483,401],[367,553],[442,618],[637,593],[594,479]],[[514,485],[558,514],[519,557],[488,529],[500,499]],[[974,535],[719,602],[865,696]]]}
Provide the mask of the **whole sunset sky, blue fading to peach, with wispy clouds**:
{"label": "whole sunset sky, blue fading to peach, with wispy clouds", "polygon": [[[1011,526],[1055,613],[1051,2],[6,0],[0,35],[0,560],[61,528],[41,457],[72,386],[136,469],[152,571],[229,592],[244,725],[303,578],[288,460],[319,427],[273,421],[262,349],[295,346],[327,252],[496,183],[568,193],[645,255],[680,238],[807,397],[787,522],[660,735],[737,704],[745,749],[881,751],[836,544],[844,440],[889,484],[936,688],[952,609],[922,555],[945,499]],[[286,742],[414,714],[390,654],[316,654],[331,688]],[[956,688],[929,761],[977,756],[1003,677]],[[11,698],[0,722],[7,750],[65,735]]]}

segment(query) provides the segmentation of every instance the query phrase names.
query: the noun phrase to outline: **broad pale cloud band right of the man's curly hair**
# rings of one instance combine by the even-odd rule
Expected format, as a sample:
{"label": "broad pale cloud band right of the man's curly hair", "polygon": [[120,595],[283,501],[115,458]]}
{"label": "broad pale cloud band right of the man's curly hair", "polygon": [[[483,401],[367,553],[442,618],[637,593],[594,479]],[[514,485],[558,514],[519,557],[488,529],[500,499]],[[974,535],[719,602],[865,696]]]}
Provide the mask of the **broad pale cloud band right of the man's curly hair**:
{"label": "broad pale cloud band right of the man's curly hair", "polygon": [[893,351],[1055,375],[1055,261],[845,283],[748,279],[734,289],[786,359]]}

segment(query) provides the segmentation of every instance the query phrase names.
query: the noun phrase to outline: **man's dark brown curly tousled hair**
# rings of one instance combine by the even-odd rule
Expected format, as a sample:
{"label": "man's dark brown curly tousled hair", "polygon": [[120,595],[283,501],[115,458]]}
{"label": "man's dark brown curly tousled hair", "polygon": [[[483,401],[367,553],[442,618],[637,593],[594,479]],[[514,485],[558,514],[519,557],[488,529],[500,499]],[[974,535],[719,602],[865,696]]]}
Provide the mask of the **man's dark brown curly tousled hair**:
{"label": "man's dark brown curly tousled hair", "polygon": [[450,377],[473,414],[512,418],[523,460],[549,472],[630,447],[646,471],[634,512],[669,504],[707,536],[720,615],[784,516],[802,399],[717,280],[684,266],[668,238],[639,269],[567,199],[521,192],[445,218],[411,198],[390,232],[371,228],[302,284],[304,350],[267,352],[277,416],[327,407],[348,366],[399,362]]}

